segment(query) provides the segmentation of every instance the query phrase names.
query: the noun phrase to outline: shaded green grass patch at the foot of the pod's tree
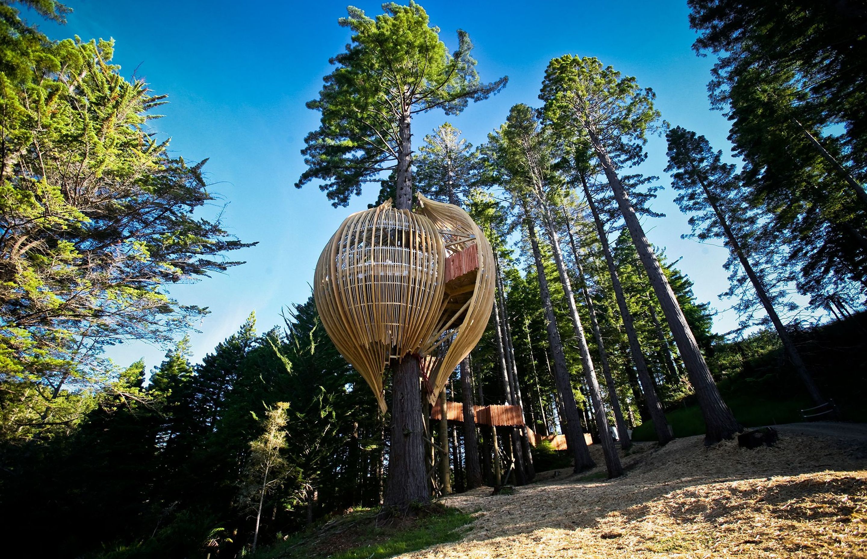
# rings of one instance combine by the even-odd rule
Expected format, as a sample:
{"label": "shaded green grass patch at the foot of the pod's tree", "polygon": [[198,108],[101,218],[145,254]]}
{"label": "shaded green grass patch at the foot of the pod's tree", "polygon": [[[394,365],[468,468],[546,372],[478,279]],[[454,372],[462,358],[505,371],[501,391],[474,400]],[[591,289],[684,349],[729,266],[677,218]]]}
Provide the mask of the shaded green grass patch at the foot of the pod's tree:
{"label": "shaded green grass patch at the foot of the pod's tree", "polygon": [[[406,518],[377,522],[376,510],[355,510],[256,554],[256,559],[379,559],[459,540],[473,516],[433,503]],[[329,528],[330,525],[330,528]]]}

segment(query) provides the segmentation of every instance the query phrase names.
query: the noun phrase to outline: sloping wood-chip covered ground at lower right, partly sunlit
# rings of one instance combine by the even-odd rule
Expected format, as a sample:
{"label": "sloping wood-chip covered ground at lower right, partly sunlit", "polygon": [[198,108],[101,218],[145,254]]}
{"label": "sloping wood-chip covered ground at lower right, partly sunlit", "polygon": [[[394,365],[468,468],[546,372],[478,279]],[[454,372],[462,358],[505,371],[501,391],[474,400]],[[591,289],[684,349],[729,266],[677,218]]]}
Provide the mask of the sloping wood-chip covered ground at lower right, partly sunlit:
{"label": "sloping wood-chip covered ground at lower right, partly sunlit", "polygon": [[441,499],[473,512],[466,536],[401,557],[867,557],[867,424],[776,428],[755,450],[634,444],[613,480],[592,445],[594,470]]}

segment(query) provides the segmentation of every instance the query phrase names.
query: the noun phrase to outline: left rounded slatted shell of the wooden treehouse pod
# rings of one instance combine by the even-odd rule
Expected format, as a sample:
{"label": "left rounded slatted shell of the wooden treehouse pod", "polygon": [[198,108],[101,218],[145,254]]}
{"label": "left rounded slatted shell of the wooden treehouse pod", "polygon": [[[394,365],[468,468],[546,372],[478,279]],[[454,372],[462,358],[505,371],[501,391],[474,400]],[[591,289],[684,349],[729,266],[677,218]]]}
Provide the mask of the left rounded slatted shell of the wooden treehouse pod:
{"label": "left rounded slatted shell of the wooden treehouse pod", "polygon": [[323,249],[313,296],[337,350],[374,392],[382,371],[419,353],[442,305],[446,250],[433,222],[386,202],[350,215]]}

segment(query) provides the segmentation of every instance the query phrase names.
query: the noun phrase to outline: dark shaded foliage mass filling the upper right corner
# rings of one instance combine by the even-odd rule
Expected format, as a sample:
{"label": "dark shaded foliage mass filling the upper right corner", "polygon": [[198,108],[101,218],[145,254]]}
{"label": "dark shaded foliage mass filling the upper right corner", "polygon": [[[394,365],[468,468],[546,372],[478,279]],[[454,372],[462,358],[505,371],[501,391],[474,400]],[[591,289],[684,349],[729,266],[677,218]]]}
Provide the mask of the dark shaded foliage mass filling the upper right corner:
{"label": "dark shaded foliage mass filling the upper right corner", "polygon": [[708,89],[732,122],[748,200],[766,210],[766,229],[786,245],[786,265],[813,306],[857,307],[867,286],[864,7],[689,6],[694,49],[719,55]]}

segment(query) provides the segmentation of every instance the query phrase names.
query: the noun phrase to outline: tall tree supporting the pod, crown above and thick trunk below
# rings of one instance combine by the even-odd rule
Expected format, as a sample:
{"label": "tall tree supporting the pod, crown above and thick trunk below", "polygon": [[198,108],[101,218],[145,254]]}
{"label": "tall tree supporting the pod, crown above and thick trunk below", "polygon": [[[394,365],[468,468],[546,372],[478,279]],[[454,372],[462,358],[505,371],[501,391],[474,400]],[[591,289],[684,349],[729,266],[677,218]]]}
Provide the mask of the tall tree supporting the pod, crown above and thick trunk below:
{"label": "tall tree supporting the pod, crown above and thick trunk below", "polygon": [[[296,187],[317,179],[332,205],[346,206],[361,194],[365,181],[380,181],[394,170],[397,209],[411,209],[412,118],[420,112],[443,109],[460,113],[470,100],[497,93],[507,78],[482,83],[473,43],[458,31],[458,49],[449,55],[439,28],[428,25],[420,5],[383,4],[385,14],[372,19],[350,6],[340,24],[353,31],[346,52],[331,62],[336,69],[325,76],[319,98],[309,109],[322,113],[321,126],[305,138],[302,150],[308,168]],[[403,358],[392,379],[392,437],[389,482],[385,504],[405,507],[427,501],[429,490],[422,444],[419,366]]]}

